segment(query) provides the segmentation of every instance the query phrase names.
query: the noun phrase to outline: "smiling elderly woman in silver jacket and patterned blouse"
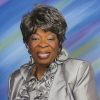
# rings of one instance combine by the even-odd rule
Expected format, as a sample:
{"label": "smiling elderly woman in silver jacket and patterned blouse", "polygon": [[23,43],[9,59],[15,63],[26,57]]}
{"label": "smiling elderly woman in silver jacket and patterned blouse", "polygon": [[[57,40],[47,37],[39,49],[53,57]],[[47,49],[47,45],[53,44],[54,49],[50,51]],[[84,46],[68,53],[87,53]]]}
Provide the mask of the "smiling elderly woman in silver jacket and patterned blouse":
{"label": "smiling elderly woman in silver jacket and patterned blouse", "polygon": [[35,7],[20,28],[31,61],[11,75],[9,100],[97,100],[90,64],[62,48],[67,24],[57,9]]}

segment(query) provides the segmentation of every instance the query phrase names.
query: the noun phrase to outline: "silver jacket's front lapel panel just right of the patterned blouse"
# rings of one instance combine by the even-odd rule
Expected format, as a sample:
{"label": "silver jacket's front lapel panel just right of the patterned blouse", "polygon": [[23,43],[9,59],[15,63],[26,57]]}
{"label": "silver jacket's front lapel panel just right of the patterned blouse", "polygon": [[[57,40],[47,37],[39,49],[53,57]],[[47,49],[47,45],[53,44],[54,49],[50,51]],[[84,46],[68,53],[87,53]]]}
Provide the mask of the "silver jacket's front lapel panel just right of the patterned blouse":
{"label": "silver jacket's front lapel panel just right of the patterned blouse", "polygon": [[48,100],[74,100],[70,84],[64,79],[64,73],[61,67],[62,65],[58,65]]}

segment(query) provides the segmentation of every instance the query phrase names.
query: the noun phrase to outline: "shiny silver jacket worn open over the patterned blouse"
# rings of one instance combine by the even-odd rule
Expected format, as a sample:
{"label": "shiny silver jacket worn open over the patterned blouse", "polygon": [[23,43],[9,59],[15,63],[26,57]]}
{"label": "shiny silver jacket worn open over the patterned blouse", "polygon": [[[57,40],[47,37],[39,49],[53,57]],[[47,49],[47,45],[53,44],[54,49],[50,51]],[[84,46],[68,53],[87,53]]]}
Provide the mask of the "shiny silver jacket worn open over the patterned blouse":
{"label": "shiny silver jacket worn open over the patterned blouse", "polygon": [[[98,100],[93,70],[88,62],[68,58],[63,49],[56,63],[58,70],[48,100]],[[25,66],[23,70],[19,69],[11,75],[9,78],[9,100],[22,100],[16,99],[16,97],[26,76]]]}

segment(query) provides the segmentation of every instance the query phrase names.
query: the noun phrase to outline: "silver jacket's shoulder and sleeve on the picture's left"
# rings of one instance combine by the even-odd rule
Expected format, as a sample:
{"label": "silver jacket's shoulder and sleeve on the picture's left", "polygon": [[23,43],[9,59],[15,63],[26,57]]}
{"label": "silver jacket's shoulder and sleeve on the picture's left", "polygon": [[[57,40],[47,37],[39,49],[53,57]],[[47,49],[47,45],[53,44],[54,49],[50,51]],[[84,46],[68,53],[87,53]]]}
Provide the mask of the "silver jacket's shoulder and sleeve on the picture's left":
{"label": "silver jacket's shoulder and sleeve on the picture's left", "polygon": [[19,69],[14,71],[10,77],[9,77],[9,83],[8,83],[8,96],[11,98],[11,95],[14,94],[21,86],[21,84],[24,82],[24,78],[21,73],[21,69],[26,69],[28,67],[28,64],[22,65]]}

